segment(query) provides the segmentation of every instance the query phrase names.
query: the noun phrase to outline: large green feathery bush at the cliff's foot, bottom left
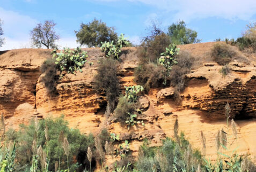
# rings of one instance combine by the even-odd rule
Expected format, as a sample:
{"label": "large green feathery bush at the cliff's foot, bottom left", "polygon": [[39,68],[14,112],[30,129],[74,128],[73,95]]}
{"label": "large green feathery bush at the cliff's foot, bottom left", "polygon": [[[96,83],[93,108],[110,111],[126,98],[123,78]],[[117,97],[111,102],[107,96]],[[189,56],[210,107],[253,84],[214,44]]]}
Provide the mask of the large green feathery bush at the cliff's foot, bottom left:
{"label": "large green feathery bush at the cliff's foot, bottom left", "polygon": [[[63,138],[67,137],[69,142],[68,160],[71,163],[70,170],[74,171],[78,168],[74,162],[74,157],[78,162],[81,162],[81,160],[77,159],[78,155],[85,153],[88,146],[93,147],[94,144],[92,135],[85,136],[77,129],[69,129],[68,122],[64,121],[63,116],[56,119],[43,119],[38,124],[33,121],[29,126],[21,124],[20,127],[20,130],[17,132],[18,137],[16,138],[16,161],[21,166],[31,165],[33,155],[32,143],[35,142],[37,145],[35,145],[36,149],[42,146],[43,151],[47,152],[48,160],[50,160],[48,170],[54,171],[56,161],[67,161],[62,147]],[[46,133],[48,139],[46,139]],[[83,158],[85,159],[85,157]],[[89,163],[85,165],[87,169],[90,167]],[[67,163],[60,163],[60,169],[67,169]]]}

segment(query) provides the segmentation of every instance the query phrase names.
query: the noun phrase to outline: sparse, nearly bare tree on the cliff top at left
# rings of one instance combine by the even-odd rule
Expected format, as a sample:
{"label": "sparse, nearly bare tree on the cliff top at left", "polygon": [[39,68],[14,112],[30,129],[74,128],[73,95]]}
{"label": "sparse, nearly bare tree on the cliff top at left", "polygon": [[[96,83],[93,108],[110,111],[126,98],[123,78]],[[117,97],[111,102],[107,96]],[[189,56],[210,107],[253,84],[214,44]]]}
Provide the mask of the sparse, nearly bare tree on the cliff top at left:
{"label": "sparse, nearly bare tree on the cliff top at left", "polygon": [[39,23],[33,30],[31,30],[32,43],[37,47],[41,48],[45,45],[47,49],[57,48],[55,41],[60,39],[60,36],[56,34],[54,26],[56,24],[53,21],[46,20],[44,24]]}

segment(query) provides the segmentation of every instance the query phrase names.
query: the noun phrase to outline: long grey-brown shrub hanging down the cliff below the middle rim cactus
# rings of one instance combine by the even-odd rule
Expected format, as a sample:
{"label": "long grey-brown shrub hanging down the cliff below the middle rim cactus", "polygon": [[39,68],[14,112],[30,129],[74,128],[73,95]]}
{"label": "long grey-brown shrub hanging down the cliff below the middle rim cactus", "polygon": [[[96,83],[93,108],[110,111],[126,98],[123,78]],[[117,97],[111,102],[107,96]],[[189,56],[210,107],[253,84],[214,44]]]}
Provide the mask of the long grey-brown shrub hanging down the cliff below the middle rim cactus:
{"label": "long grey-brown shrub hanging down the cliff below the middle rim cactus", "polygon": [[112,58],[101,58],[99,60],[97,75],[94,76],[93,87],[97,91],[104,90],[108,101],[109,111],[114,110],[115,102],[120,94],[120,84],[118,80],[118,67]]}

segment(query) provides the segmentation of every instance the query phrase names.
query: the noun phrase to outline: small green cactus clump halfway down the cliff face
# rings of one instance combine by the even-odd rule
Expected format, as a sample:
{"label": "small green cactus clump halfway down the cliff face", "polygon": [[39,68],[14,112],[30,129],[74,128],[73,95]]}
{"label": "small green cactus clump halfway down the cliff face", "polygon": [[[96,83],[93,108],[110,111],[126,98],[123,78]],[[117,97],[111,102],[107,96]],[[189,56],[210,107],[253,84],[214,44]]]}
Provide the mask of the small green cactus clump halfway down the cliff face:
{"label": "small green cactus clump halfway down the cliff face", "polygon": [[125,97],[128,98],[129,102],[136,102],[138,98],[138,93],[144,90],[142,85],[133,85],[129,87],[125,87],[126,95]]}

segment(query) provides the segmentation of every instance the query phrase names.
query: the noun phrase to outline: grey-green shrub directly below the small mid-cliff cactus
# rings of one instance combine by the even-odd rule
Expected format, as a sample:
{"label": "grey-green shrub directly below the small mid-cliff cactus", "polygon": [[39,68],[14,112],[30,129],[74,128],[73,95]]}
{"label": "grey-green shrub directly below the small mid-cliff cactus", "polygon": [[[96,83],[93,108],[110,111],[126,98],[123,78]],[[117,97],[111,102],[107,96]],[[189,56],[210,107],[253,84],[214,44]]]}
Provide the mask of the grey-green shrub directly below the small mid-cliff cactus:
{"label": "grey-green shrub directly below the small mid-cliff cactus", "polygon": [[129,102],[126,97],[120,97],[118,106],[114,111],[115,117],[121,124],[126,124],[125,121],[129,118],[129,113],[133,113],[136,108],[138,108],[137,103]]}

